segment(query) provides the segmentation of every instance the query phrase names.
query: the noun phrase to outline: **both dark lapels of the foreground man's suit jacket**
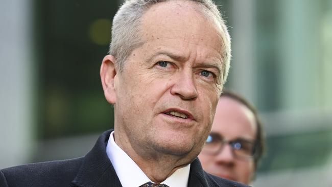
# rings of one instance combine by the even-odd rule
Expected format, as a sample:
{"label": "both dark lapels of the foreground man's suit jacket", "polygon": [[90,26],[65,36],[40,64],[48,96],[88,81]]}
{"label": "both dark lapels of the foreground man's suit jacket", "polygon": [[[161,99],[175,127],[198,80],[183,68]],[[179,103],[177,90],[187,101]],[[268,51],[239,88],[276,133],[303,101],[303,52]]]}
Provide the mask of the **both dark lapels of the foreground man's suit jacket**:
{"label": "both dark lapels of the foreground man's suit jacket", "polygon": [[[106,145],[110,133],[113,130],[104,132],[97,140],[92,150],[83,158],[73,186],[77,187],[122,187],[111,161],[106,154]],[[198,158],[191,163],[188,179],[189,187],[212,187],[219,186],[215,182],[207,181],[207,174],[203,171]],[[172,186],[173,187],[173,186]]]}

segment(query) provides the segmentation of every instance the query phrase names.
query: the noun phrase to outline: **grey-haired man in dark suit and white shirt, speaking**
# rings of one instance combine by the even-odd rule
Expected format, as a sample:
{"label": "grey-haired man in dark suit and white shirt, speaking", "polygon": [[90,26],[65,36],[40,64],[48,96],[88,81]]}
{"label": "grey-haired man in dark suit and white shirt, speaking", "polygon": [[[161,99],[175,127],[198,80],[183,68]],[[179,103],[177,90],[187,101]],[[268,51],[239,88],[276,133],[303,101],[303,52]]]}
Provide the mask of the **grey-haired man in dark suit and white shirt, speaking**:
{"label": "grey-haired man in dark suit and white shirt, speaking", "polygon": [[210,0],[125,2],[100,71],[114,130],[85,157],[4,169],[0,186],[243,186],[205,173],[197,158],[229,61]]}

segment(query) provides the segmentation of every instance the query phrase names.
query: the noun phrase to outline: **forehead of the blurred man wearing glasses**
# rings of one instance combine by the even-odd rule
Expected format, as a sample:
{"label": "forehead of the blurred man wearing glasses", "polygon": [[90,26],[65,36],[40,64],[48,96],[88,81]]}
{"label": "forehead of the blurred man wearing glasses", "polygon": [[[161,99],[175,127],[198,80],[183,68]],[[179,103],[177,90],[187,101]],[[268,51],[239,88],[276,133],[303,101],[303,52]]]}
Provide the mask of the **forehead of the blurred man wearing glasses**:
{"label": "forehead of the blurred man wearing glasses", "polygon": [[255,116],[249,108],[229,97],[219,99],[212,131],[226,139],[255,139],[256,129]]}

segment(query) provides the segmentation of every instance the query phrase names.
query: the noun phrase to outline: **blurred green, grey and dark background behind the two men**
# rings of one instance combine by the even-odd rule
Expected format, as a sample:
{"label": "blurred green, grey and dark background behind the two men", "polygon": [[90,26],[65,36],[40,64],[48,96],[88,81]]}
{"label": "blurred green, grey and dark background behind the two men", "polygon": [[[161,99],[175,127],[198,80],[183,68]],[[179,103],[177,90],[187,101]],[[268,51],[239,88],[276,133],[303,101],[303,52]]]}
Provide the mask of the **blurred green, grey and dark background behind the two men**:
{"label": "blurred green, grey and dark background behind the two men", "polygon": [[[226,87],[265,124],[254,186],[332,186],[332,0],[216,3],[232,36]],[[2,1],[0,168],[83,156],[113,127],[99,68],[121,4]]]}

